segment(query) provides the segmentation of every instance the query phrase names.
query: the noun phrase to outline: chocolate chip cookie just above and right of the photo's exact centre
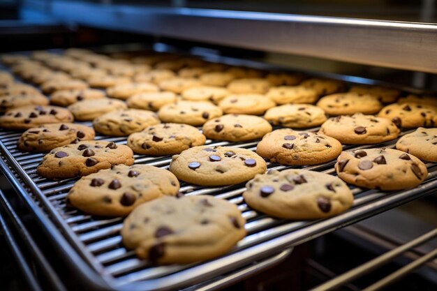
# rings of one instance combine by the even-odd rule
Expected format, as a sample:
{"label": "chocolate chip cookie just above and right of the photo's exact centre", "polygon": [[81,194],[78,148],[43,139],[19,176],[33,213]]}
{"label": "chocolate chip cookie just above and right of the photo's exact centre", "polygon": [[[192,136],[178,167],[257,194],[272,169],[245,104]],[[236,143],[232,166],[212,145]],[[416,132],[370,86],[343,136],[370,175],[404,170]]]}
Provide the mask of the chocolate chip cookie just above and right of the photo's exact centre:
{"label": "chocolate chip cookie just above and right of the photo's exact centre", "polygon": [[202,127],[203,134],[212,140],[242,142],[255,140],[272,131],[272,126],[253,115],[227,114],[216,119],[209,119]]}

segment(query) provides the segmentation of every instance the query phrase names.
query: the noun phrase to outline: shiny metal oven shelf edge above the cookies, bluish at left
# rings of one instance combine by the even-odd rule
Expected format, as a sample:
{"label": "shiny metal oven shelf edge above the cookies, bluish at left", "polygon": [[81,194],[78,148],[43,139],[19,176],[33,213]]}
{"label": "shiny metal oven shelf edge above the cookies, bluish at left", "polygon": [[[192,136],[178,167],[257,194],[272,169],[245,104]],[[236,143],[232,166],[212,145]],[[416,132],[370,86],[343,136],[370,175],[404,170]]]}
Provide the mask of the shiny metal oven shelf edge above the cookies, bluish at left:
{"label": "shiny metal oven shelf edge above the cookies, bluish at left", "polygon": [[437,73],[437,25],[200,8],[53,1],[61,22]]}

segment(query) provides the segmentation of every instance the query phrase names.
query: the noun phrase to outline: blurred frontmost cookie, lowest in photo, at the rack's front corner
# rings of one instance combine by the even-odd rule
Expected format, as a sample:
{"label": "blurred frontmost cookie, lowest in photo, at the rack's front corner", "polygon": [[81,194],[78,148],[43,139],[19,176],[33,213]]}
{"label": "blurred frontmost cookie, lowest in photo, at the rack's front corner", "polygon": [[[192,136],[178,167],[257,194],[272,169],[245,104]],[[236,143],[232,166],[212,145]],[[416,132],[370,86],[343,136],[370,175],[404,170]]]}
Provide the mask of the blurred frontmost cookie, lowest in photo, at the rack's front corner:
{"label": "blurred frontmost cookie, lowest in photo, at the rack's front corner", "polygon": [[155,264],[188,264],[228,253],[246,235],[235,204],[208,195],[165,196],[135,208],[121,237]]}

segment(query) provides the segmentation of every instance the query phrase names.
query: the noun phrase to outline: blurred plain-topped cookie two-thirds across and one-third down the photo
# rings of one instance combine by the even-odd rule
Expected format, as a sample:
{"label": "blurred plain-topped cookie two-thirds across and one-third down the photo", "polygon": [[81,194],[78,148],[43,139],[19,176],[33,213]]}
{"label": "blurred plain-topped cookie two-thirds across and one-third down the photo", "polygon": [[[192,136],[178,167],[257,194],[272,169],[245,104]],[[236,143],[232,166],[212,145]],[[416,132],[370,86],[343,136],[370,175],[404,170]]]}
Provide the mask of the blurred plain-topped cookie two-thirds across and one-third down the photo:
{"label": "blurred plain-topped cookie two-thirds across and one-third down the photo", "polygon": [[304,86],[281,86],[270,88],[266,96],[279,105],[288,103],[312,104],[316,103],[319,94],[315,89]]}

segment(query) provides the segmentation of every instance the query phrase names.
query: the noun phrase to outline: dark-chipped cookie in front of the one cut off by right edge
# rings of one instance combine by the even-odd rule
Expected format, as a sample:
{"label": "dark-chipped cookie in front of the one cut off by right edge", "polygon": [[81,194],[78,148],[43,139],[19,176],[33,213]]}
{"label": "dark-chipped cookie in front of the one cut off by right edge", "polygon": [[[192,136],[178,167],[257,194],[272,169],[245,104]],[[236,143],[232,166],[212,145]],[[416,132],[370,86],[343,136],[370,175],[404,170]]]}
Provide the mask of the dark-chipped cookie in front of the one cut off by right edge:
{"label": "dark-chipped cookie in front of the one cut off by right edge", "polygon": [[335,170],[346,183],[383,191],[413,188],[428,174],[418,158],[397,149],[343,151]]}

